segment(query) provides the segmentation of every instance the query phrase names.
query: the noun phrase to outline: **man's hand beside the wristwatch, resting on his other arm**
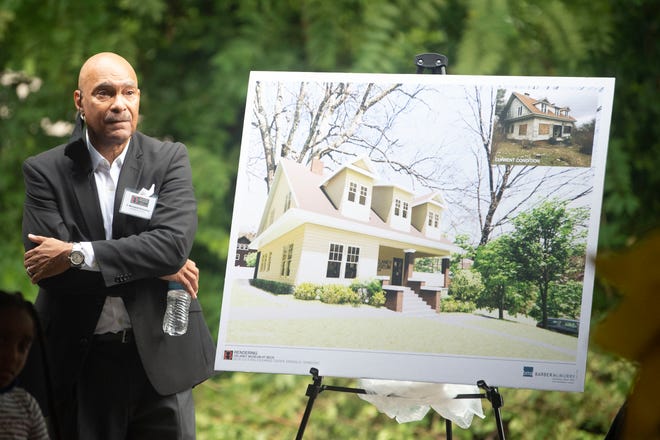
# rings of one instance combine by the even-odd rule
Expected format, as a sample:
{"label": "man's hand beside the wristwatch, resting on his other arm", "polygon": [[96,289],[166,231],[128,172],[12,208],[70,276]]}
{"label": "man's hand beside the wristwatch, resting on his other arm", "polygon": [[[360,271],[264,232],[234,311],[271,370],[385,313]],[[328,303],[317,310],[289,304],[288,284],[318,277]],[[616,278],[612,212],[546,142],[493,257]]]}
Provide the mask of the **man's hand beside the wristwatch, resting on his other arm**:
{"label": "man's hand beside the wristwatch, resting on his other arm", "polygon": [[28,234],[28,239],[37,244],[23,255],[23,265],[32,284],[59,275],[71,267],[69,254],[72,243],[33,234]]}

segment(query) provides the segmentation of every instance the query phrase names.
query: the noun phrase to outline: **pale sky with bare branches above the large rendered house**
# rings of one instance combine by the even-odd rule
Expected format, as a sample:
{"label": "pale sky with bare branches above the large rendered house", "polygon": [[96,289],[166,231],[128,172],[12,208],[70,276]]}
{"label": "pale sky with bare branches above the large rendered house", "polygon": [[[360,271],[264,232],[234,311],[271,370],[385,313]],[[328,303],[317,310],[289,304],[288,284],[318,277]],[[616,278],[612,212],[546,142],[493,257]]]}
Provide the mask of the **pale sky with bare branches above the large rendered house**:
{"label": "pale sky with bare branches above the large rendered house", "polygon": [[[365,155],[407,176],[413,187],[442,191],[455,216],[449,229],[465,233],[466,225],[475,224],[479,243],[485,244],[540,194],[575,200],[591,192],[588,168],[493,163],[504,94],[487,86],[461,91],[399,83],[257,82],[252,126],[258,140],[251,170],[269,189],[280,157],[343,164],[347,157]],[[457,119],[434,119],[438,126],[426,127],[423,141],[397,138],[416,134],[407,127],[397,129],[397,123],[410,122],[400,117],[409,112],[418,117],[424,111]]]}

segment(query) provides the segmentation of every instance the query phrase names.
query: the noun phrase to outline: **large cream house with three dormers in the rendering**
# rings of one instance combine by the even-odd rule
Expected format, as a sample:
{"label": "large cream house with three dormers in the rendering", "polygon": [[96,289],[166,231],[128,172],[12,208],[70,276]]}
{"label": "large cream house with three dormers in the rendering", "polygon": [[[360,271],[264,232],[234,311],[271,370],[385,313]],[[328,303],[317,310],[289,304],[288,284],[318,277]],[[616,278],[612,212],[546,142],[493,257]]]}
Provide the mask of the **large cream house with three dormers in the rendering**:
{"label": "large cream house with three dormers in the rendering", "polygon": [[415,198],[380,183],[366,158],[329,176],[323,171],[318,160],[311,168],[280,161],[250,246],[259,251],[256,278],[294,285],[378,278],[387,286],[414,285],[415,258],[448,257],[456,250],[441,233],[446,206],[439,193]]}

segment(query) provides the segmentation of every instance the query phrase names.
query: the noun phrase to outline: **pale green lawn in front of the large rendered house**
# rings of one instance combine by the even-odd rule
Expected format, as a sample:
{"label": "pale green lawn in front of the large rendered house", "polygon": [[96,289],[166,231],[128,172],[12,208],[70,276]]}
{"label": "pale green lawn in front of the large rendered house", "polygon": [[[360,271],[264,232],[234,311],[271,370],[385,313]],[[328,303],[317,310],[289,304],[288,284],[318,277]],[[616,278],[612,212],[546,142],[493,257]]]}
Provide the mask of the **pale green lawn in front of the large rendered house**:
{"label": "pale green lawn in front of the large rendered house", "polygon": [[[374,313],[376,312],[376,313]],[[232,292],[226,342],[575,361],[577,338],[471,314],[436,319],[275,296],[243,284]]]}

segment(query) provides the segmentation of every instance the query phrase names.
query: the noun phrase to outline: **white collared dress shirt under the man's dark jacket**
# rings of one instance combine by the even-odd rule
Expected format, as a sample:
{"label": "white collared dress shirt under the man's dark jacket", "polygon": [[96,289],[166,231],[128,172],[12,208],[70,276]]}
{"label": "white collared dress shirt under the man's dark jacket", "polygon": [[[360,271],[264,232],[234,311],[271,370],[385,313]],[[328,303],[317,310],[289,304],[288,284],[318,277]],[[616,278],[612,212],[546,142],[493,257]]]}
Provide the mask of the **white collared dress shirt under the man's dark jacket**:
{"label": "white collared dress shirt under the man's dark jacket", "polygon": [[[112,218],[114,215],[115,192],[117,191],[117,182],[119,173],[126,158],[126,152],[130,146],[130,140],[124,151],[112,162],[96,151],[89,140],[89,134],[85,130],[85,141],[89,155],[92,159],[92,169],[94,170],[94,180],[96,180],[96,189],[99,195],[101,205],[101,214],[103,215],[103,228],[105,229],[105,239],[112,239]],[[83,270],[99,271],[100,268],[94,255],[94,248],[89,241],[80,243],[82,252],[85,255],[85,264]],[[118,296],[107,296],[105,304],[101,311],[101,316],[96,323],[94,333],[117,333],[121,330],[131,327],[131,319],[124,305],[124,300]]]}

